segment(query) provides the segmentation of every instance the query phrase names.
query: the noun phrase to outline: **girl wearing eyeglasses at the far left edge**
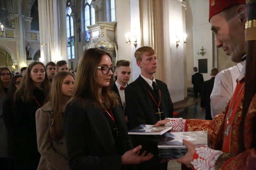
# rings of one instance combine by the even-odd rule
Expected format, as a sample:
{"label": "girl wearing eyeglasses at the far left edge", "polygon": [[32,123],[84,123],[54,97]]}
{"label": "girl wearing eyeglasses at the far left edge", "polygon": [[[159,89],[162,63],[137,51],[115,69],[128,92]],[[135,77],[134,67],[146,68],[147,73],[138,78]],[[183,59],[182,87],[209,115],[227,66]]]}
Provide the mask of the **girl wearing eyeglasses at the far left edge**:
{"label": "girl wearing eyeglasses at the far left edge", "polygon": [[10,80],[12,78],[11,71],[8,67],[0,67],[0,169],[10,167],[10,159],[8,158],[8,142],[7,129],[3,121],[2,108],[5,101],[6,94]]}

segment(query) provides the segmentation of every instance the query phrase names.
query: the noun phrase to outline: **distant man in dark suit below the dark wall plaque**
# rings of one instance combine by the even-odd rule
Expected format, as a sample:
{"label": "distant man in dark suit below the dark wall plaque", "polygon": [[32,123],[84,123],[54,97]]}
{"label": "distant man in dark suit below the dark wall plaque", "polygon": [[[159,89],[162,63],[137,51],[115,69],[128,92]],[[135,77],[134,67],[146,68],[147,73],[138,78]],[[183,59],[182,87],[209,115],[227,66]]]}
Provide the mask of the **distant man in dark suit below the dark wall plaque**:
{"label": "distant man in dark suit below the dark wall plaque", "polygon": [[198,73],[197,67],[194,67],[195,74],[192,75],[192,84],[194,84],[194,97],[197,98],[198,92],[201,95],[203,85],[203,75]]}

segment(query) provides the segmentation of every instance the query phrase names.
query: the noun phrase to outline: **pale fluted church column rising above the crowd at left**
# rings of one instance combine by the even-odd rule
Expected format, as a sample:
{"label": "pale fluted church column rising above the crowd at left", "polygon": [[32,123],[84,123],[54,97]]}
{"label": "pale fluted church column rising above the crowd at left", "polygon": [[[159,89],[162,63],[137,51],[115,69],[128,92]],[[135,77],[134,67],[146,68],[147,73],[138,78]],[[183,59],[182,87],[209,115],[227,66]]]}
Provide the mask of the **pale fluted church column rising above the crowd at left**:
{"label": "pale fluted church column rising above the crowd at left", "polygon": [[38,8],[41,61],[67,61],[65,1],[38,1]]}

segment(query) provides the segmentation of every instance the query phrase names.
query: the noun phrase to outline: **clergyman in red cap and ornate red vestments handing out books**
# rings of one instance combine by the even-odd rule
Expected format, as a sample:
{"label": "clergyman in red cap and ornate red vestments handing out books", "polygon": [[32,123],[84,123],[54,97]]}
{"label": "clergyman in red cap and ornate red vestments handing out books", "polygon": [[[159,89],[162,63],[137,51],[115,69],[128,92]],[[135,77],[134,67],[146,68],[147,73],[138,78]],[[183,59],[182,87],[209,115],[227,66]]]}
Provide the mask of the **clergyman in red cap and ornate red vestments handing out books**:
{"label": "clergyman in red cap and ornate red vestments handing out books", "polygon": [[[210,0],[209,20],[215,34],[215,43],[223,48],[233,62],[241,62],[243,69],[229,104],[212,121],[170,118],[156,124],[174,125],[173,131],[207,130],[211,148],[196,148],[183,140],[188,152],[177,162],[195,169],[256,169],[255,120],[256,97],[251,101],[245,120],[242,120],[245,83],[245,0]],[[245,122],[241,125],[241,122]],[[243,132],[243,135],[240,134]]]}

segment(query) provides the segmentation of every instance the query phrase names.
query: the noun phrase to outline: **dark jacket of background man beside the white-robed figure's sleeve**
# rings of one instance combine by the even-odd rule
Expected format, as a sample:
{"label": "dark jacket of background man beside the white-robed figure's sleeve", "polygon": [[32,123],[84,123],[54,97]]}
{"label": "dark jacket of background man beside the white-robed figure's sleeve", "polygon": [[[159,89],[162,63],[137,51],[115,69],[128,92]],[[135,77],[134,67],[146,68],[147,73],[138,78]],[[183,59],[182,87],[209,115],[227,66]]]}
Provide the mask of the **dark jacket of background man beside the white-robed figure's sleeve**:
{"label": "dark jacket of background man beside the white-robed figure's sleeve", "polygon": [[210,80],[204,81],[202,86],[202,95],[201,95],[201,107],[205,109],[211,109],[211,93],[213,89],[215,77],[212,77]]}

